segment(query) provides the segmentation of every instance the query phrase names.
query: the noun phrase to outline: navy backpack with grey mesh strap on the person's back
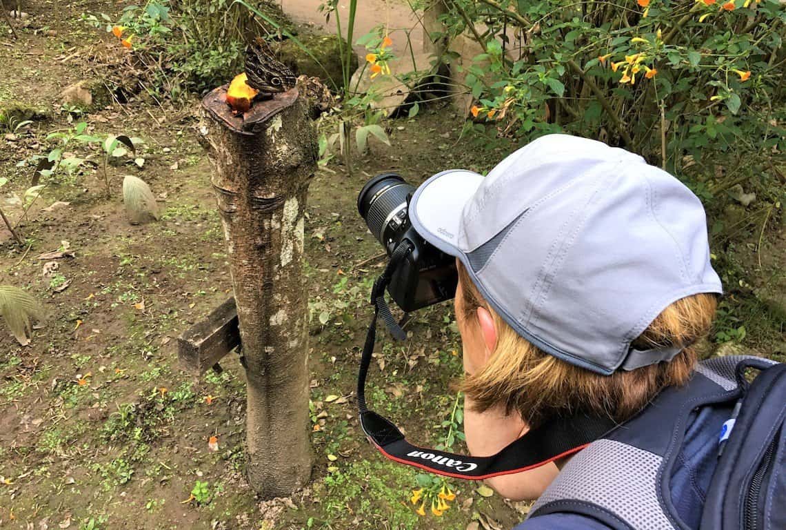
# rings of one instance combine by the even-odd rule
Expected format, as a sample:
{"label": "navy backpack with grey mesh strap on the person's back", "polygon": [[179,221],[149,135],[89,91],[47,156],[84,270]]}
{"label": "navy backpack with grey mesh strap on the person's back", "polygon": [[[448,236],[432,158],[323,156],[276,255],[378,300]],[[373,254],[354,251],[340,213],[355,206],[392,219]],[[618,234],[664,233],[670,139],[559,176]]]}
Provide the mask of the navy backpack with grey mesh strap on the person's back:
{"label": "navy backpack with grey mesh strap on the person's back", "polygon": [[714,425],[728,419],[718,425],[718,464],[699,528],[786,529],[786,364],[750,356],[699,363],[687,385],[667,388],[571,458],[528,517],[569,512],[620,530],[688,528],[669,482],[689,418],[704,417]]}

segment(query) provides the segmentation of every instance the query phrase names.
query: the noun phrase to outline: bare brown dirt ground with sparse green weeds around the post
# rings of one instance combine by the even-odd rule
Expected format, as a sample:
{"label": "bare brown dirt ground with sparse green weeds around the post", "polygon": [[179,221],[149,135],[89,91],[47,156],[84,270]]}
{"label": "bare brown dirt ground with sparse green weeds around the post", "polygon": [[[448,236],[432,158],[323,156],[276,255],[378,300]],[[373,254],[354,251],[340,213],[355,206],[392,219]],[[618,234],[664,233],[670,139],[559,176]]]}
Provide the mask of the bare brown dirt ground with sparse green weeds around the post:
{"label": "bare brown dirt ground with sparse green weeds around the post", "polygon": [[[55,143],[46,135],[72,123],[85,121],[90,134],[141,138],[145,162],[108,167],[109,199],[100,168],[48,186],[20,223],[24,245],[0,232],[0,285],[27,289],[48,314],[27,347],[0,329],[0,528],[463,529],[472,521],[478,528],[520,521],[526,506],[479,495],[477,484],[458,481],[451,510],[439,519],[418,516],[408,502],[417,473],[369,447],[353,397],[370,316],[367,293],[381,265],[373,259],[380,246],[355,210],[358,190],[390,169],[415,184],[448,167],[485,171],[514,146],[480,149],[459,137],[462,116],[435,106],[413,120],[387,122],[392,147],[373,142],[367,156],[355,159],[353,176],[335,161],[318,171],[304,267],[314,315],[316,465],[303,491],[261,502],[243,474],[245,399],[237,356],[222,361],[222,374],[196,378],[179,370],[174,350],[175,337],[230,296],[211,167],[196,142],[199,101],[174,107],[138,94],[123,105],[69,113],[61,90],[92,79],[101,58],[115,53],[111,36],[80,20],[105,10],[106,2],[23,5],[31,18],[18,41],[0,24],[0,104],[23,101],[40,112],[27,130],[0,134],[0,176],[9,179],[0,207],[12,219],[21,215],[14,196],[30,186],[31,156],[48,153]],[[159,222],[127,223],[120,199],[127,174],[149,183],[163,212]],[[783,285],[784,234],[773,230],[762,266],[745,285],[733,285],[731,296],[782,293],[773,285]],[[738,264],[734,271],[758,258],[739,246],[725,257]],[[72,256],[39,258],[57,250]],[[57,270],[42,274],[50,262],[57,265],[48,269]],[[744,322],[746,345],[783,359],[782,315],[750,307],[758,322]],[[461,357],[453,322],[450,304],[421,311],[410,324],[412,340],[384,340],[376,353],[370,402],[422,444],[444,440],[443,421],[454,409],[448,385],[461,374]],[[211,436],[217,451],[208,447]],[[189,500],[195,487],[200,499]]]}

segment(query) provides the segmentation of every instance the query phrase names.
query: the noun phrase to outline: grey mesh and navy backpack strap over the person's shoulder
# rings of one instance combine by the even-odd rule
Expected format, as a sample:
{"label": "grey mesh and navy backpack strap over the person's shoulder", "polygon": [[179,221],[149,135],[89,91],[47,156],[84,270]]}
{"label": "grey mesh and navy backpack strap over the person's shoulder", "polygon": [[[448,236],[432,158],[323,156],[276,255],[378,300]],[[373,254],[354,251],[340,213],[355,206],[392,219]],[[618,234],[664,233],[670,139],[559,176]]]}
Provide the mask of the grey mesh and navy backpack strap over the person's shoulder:
{"label": "grey mesh and navy backpack strap over the person's shoulder", "polygon": [[611,528],[682,528],[670,499],[663,500],[670,495],[663,477],[679,454],[689,414],[709,403],[733,402],[740,392],[736,368],[748,359],[758,358],[740,355],[699,363],[696,374],[703,377],[667,388],[637,416],[571,458],[529,517],[570,511]]}

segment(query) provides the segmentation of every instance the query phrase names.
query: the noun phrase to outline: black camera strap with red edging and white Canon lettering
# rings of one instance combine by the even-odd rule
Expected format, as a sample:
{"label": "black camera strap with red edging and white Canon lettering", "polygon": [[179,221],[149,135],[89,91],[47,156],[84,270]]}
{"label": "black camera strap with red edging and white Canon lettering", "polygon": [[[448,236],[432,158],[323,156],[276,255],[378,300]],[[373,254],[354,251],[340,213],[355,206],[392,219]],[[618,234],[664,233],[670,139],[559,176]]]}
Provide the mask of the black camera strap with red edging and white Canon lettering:
{"label": "black camera strap with red edging and white Canon lettering", "polygon": [[532,429],[509,444],[498,454],[488,457],[457,455],[410,444],[392,421],[369,410],[365,403],[365,379],[376,340],[376,321],[381,318],[393,337],[406,339],[406,333],[395,321],[384,292],[399,263],[412,252],[409,241],[395,248],[382,275],[376,279],[371,293],[374,315],[365,336],[358,373],[358,414],[365,436],[387,458],[415,466],[430,473],[468,480],[483,480],[499,475],[520,473],[581,451],[604,436],[617,424],[612,418],[589,417],[586,414],[553,418],[538,429]]}

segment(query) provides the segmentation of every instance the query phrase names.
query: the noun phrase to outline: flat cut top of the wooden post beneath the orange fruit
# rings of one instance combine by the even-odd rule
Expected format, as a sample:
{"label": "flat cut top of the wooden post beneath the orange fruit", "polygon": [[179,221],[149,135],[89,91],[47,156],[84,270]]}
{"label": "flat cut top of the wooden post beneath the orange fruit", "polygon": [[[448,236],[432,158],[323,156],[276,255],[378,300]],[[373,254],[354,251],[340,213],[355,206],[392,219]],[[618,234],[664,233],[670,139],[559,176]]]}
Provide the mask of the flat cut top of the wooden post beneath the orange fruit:
{"label": "flat cut top of the wooden post beneath the orange fruit", "polygon": [[234,114],[232,108],[226,102],[226,90],[229,85],[219,86],[208,92],[202,98],[202,106],[218,121],[224,123],[226,127],[237,134],[248,134],[249,136],[259,131],[257,127],[261,123],[270,120],[278,112],[294,105],[298,98],[297,86],[274,94],[270,99],[256,100],[252,103],[251,109],[243,114]]}

